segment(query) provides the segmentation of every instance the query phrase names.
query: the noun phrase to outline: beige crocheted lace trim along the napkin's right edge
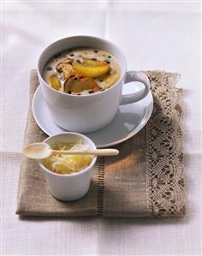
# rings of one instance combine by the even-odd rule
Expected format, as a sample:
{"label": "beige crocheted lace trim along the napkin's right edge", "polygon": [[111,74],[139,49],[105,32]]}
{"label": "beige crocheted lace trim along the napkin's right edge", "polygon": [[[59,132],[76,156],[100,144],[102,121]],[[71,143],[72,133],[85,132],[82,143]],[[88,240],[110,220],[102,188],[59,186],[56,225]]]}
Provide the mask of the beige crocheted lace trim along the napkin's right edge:
{"label": "beige crocheted lace trim along the napkin's right edge", "polygon": [[147,205],[151,216],[185,213],[181,152],[180,74],[146,72],[151,82],[154,108],[146,125]]}

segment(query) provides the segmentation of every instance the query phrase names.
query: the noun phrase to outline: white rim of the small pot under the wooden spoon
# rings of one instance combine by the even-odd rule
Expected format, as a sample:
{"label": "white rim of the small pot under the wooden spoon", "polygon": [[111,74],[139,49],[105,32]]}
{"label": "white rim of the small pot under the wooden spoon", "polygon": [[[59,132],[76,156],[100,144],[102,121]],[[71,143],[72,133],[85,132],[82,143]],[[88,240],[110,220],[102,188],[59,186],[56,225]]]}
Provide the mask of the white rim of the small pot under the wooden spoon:
{"label": "white rim of the small pot under the wooden spoon", "polygon": [[[78,133],[74,133],[74,132],[67,132],[67,133],[55,134],[55,135],[52,135],[52,136],[46,138],[46,139],[43,140],[42,142],[45,142],[45,141],[47,141],[47,140],[50,140],[50,139],[52,139],[52,138],[54,138],[54,137],[57,137],[57,136],[60,136],[60,135],[68,135],[68,134],[74,134],[74,135],[77,136],[77,137],[86,138],[87,140],[90,140],[90,141],[92,142],[92,145],[94,146],[94,148],[97,149],[97,147],[96,147],[96,145],[94,144],[94,142],[93,142],[90,138],[88,138],[86,135],[78,134]],[[55,173],[55,172],[53,172],[53,171],[47,169],[44,164],[41,164],[41,163],[40,163],[40,161],[39,161],[39,166],[40,166],[43,170],[47,171],[48,173],[50,173],[50,174],[53,175],[53,176],[60,176],[60,177],[62,177],[62,176],[66,176],[66,177],[67,177],[67,176],[79,176],[81,173],[86,172],[87,170],[89,170],[90,168],[92,168],[92,166],[96,163],[96,160],[97,160],[97,157],[94,157],[94,158],[92,159],[92,163],[91,163],[90,165],[88,165],[85,169],[80,170],[80,171],[78,171],[78,172],[71,173],[71,174],[58,174],[58,173]]]}

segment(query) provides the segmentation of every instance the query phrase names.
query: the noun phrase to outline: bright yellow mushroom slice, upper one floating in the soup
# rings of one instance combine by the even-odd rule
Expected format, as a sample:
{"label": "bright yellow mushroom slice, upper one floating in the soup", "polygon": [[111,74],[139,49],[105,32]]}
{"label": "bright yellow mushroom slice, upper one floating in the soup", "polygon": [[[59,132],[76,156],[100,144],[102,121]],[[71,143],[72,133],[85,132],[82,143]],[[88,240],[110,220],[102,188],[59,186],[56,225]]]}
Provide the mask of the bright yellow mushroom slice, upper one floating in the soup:
{"label": "bright yellow mushroom slice, upper one floating in the soup", "polygon": [[110,71],[110,65],[103,62],[85,59],[83,63],[72,63],[76,72],[84,77],[96,78],[107,74]]}

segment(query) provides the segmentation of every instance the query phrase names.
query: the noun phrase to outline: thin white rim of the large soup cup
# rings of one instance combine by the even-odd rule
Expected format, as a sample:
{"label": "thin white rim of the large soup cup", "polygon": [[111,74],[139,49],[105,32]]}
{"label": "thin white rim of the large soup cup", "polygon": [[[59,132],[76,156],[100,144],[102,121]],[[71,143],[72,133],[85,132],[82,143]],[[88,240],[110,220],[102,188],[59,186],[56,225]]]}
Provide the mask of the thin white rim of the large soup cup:
{"label": "thin white rim of the large soup cup", "polygon": [[[104,91],[98,92],[98,93],[94,93],[94,94],[92,93],[92,94],[86,94],[86,95],[82,95],[82,94],[81,94],[81,95],[72,95],[72,94],[68,94],[68,93],[65,93],[65,92],[56,91],[55,89],[53,89],[52,87],[50,87],[50,86],[46,83],[46,81],[44,80],[43,76],[40,74],[40,72],[39,72],[39,62],[40,62],[40,59],[42,58],[42,55],[45,53],[45,51],[46,51],[50,46],[55,45],[57,42],[59,42],[59,41],[61,41],[61,40],[72,39],[72,38],[80,38],[80,37],[82,37],[82,38],[99,39],[99,40],[101,40],[101,41],[104,41],[104,43],[107,43],[107,44],[113,46],[114,48],[116,48],[117,51],[119,51],[119,52],[122,53],[122,57],[123,57],[123,59],[124,59],[124,65],[123,65],[123,66],[124,66],[124,69],[125,69],[125,70],[123,70],[122,75],[120,76],[119,80],[117,80],[116,83],[115,83],[113,86],[110,86],[110,88],[108,88],[108,89],[106,89],[106,90],[104,90]],[[86,46],[86,47],[87,47],[87,46]],[[67,49],[67,50],[68,50],[68,49]],[[55,53],[55,54],[56,54],[56,53]],[[120,65],[119,65],[119,66],[120,66]],[[45,68],[45,67],[43,67],[43,68]],[[121,68],[121,67],[120,67],[120,68]],[[111,43],[110,41],[108,41],[108,40],[106,40],[106,39],[101,39],[101,38],[98,38],[98,37],[92,37],[92,36],[88,36],[88,35],[77,35],[77,36],[62,38],[62,39],[59,39],[59,40],[54,41],[52,44],[46,46],[45,49],[44,49],[44,51],[42,51],[42,53],[41,53],[40,56],[39,56],[39,61],[38,61],[38,66],[37,66],[37,73],[38,73],[38,76],[39,76],[39,78],[40,78],[41,80],[44,81],[45,86],[48,86],[48,87],[50,88],[50,90],[53,90],[54,92],[61,93],[62,95],[68,95],[68,96],[70,96],[70,97],[89,97],[89,96],[92,96],[92,95],[95,96],[95,95],[99,95],[99,94],[101,94],[101,93],[108,92],[108,91],[110,91],[110,89],[112,89],[113,87],[115,87],[115,86],[118,84],[118,82],[120,82],[120,80],[122,80],[122,78],[124,77],[124,75],[125,75],[125,73],[126,73],[126,70],[127,70],[127,59],[126,59],[126,56],[125,56],[124,52],[122,51],[122,49],[121,49],[119,46],[117,46],[117,45],[114,44],[114,43]],[[121,71],[122,71],[122,68],[121,68]]]}

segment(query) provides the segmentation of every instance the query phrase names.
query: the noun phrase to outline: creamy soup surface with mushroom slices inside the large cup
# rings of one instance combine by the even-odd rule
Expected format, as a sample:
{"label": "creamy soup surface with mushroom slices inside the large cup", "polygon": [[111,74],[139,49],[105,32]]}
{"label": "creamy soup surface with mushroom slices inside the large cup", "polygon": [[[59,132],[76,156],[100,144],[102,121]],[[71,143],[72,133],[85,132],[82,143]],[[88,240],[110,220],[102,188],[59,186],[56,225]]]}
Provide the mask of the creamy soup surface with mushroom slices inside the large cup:
{"label": "creamy soup surface with mushroom slices inside the large cup", "polygon": [[74,95],[102,92],[121,76],[116,58],[109,52],[77,48],[51,57],[44,68],[45,81],[55,90]]}

